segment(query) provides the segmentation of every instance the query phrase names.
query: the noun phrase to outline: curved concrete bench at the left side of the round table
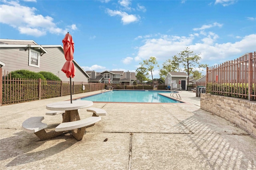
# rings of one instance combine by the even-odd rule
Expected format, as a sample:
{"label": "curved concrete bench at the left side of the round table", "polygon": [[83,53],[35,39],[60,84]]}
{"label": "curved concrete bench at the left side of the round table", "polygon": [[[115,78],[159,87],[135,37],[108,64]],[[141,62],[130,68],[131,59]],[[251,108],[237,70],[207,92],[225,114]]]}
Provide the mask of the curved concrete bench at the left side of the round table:
{"label": "curved concrete bench at the left side of the round table", "polygon": [[42,120],[44,120],[43,116],[30,117],[22,123],[22,130],[28,133],[34,133],[41,140],[50,139],[52,137],[56,137],[63,133],[63,131],[62,132],[50,131],[47,133],[45,131],[47,124],[42,123]]}

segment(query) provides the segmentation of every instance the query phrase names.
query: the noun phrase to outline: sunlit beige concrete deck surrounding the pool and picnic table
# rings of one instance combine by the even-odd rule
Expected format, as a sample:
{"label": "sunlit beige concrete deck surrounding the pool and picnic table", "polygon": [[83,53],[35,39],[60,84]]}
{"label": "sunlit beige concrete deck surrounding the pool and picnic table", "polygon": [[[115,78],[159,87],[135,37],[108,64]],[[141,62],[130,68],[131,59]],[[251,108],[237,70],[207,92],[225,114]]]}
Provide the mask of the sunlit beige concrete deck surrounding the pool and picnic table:
{"label": "sunlit beige concrete deck surrounding the pool and picnic table", "polygon": [[[200,109],[195,93],[180,96],[185,104],[94,103],[107,115],[86,128],[81,141],[70,133],[40,141],[21,129],[34,116],[44,116],[49,129],[61,123],[61,115],[45,115],[46,105],[70,96],[1,106],[0,169],[256,169],[256,139]],[[92,115],[86,108],[79,114],[81,119]]]}

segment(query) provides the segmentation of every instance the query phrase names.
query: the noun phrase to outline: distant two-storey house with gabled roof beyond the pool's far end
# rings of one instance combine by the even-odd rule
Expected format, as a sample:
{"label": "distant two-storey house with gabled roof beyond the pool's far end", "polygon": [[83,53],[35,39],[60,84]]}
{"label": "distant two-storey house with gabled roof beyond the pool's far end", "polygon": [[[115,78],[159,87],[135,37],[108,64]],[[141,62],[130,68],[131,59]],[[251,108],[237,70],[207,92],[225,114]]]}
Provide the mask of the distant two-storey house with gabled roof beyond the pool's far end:
{"label": "distant two-storey house with gabled roof beyond the pool's far end", "polygon": [[135,72],[124,71],[86,71],[90,76],[88,82],[100,82],[100,83],[113,83],[113,84],[125,84],[132,85],[136,81]]}

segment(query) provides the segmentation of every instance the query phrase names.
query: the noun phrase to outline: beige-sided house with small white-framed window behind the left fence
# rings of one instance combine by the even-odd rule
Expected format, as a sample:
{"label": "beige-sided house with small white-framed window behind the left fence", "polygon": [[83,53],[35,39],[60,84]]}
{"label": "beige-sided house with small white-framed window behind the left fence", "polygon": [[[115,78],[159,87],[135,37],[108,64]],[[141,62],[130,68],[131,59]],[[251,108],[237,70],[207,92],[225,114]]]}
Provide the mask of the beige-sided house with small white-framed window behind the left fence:
{"label": "beige-sided house with small white-framed window behind the left fence", "polygon": [[[33,40],[0,39],[0,63],[7,72],[14,70],[49,71],[62,81],[69,81],[61,71],[66,62],[61,45],[38,45]],[[88,82],[88,74],[73,60],[76,72],[72,81]]]}

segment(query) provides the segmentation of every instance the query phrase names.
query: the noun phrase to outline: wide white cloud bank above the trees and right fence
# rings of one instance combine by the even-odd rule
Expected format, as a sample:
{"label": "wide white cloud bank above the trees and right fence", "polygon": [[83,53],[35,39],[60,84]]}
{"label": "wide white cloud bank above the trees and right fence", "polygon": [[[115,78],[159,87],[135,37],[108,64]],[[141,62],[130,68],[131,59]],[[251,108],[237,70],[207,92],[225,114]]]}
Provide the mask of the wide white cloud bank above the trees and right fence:
{"label": "wide white cloud bank above the trees and right fence", "polygon": [[239,54],[242,55],[255,51],[256,34],[242,37],[234,43],[216,43],[218,39],[219,36],[213,32],[209,32],[206,36],[202,37],[200,43],[193,43],[193,35],[188,37],[162,35],[158,39],[147,39],[144,45],[139,47],[134,60],[142,61],[153,56],[161,63],[171,59],[174,55],[183,51],[185,47],[190,47],[194,53],[201,54],[200,57],[203,64],[221,64],[224,61],[236,59],[239,57],[237,56]]}

